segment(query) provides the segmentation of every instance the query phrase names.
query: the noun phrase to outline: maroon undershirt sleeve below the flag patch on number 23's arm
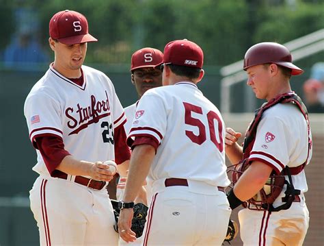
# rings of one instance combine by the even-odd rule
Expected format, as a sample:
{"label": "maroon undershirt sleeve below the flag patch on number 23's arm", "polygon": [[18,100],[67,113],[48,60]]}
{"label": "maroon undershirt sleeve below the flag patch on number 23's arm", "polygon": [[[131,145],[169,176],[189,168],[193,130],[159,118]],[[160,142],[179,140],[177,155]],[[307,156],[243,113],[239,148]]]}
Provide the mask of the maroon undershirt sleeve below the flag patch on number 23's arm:
{"label": "maroon undershirt sleeve below the flag patch on number 23's arm", "polygon": [[51,175],[64,157],[70,156],[70,153],[64,149],[63,139],[59,136],[40,136],[35,141],[36,148],[40,151]]}

